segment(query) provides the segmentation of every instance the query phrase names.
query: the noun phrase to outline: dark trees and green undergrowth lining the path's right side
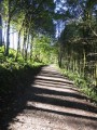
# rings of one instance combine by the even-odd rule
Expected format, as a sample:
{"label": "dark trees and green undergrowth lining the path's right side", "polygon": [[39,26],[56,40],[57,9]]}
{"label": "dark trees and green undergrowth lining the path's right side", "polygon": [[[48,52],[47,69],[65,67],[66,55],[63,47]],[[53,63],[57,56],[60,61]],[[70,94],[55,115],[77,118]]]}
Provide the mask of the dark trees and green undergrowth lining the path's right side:
{"label": "dark trees and green undergrowth lining the path's right side", "polygon": [[97,2],[69,0],[67,4],[72,17],[66,18],[68,22],[60,34],[59,67],[85,94],[97,101]]}

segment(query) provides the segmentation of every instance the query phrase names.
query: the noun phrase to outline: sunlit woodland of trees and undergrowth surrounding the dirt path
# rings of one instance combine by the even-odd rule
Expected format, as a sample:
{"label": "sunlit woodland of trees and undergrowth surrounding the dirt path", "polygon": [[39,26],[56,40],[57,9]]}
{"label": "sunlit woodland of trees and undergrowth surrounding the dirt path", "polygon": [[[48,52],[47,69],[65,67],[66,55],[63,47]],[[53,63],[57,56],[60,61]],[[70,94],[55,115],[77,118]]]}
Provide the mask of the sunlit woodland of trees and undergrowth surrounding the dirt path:
{"label": "sunlit woodland of trees and undergrowth surrounding the dirt path", "polygon": [[97,102],[97,1],[0,0],[0,102],[48,64]]}

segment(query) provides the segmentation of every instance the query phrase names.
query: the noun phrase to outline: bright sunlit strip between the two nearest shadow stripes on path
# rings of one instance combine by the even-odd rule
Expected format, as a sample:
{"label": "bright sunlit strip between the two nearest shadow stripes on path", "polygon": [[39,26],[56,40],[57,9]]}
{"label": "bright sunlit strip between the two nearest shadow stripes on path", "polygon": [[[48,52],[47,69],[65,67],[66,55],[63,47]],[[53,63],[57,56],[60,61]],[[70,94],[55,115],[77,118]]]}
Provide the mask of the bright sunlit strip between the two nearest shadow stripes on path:
{"label": "bright sunlit strip between the two nearest shadow stripes on path", "polygon": [[75,118],[83,118],[83,119],[88,119],[88,120],[97,120],[97,117],[93,116],[93,114],[80,109],[77,112],[74,108],[64,108],[64,107],[54,107],[53,105],[46,105],[46,103],[36,103],[36,102],[28,102],[27,107],[25,108],[24,113],[31,114],[31,110],[42,110],[42,112],[48,112],[52,114],[57,114],[61,116],[70,116],[70,117],[75,117]]}

